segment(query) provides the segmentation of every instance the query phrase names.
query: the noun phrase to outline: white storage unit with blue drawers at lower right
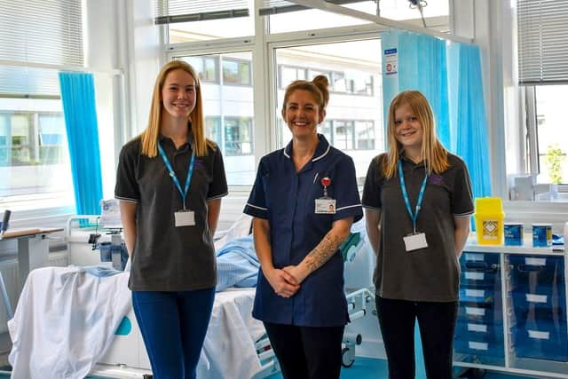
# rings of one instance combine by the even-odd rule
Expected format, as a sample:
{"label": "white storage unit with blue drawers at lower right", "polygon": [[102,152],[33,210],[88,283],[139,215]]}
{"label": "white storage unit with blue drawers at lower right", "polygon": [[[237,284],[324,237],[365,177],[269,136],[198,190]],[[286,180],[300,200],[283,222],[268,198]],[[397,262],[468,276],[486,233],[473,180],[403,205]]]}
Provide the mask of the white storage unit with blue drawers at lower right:
{"label": "white storage unit with blue drawers at lower right", "polygon": [[460,259],[455,367],[568,379],[568,256],[532,243],[529,235],[524,246],[469,239]]}

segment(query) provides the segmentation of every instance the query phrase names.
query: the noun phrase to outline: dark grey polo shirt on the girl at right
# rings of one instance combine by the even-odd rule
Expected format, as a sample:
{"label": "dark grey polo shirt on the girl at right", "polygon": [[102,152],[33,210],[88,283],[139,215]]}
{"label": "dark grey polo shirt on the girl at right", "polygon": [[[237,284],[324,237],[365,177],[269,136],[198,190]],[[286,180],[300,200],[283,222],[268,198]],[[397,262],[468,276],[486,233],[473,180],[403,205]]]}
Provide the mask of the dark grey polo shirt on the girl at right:
{"label": "dark grey polo shirt on the girl at right", "polygon": [[[417,231],[426,233],[428,247],[407,252],[403,237],[413,232],[398,173],[383,176],[386,154],[376,156],[367,171],[363,207],[381,211],[381,241],[375,268],[376,294],[409,301],[452,302],[458,300],[460,264],[454,253],[454,216],[473,213],[471,184],[466,165],[448,154],[449,169],[428,178]],[[402,158],[406,190],[411,207],[425,175],[423,162]]]}

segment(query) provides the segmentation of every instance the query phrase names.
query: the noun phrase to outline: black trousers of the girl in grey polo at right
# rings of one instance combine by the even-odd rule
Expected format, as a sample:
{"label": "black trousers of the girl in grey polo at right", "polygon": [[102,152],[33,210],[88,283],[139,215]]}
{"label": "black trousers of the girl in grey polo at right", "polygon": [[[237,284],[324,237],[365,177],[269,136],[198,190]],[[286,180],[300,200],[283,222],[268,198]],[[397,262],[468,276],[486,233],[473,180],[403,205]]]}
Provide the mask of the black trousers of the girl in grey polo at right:
{"label": "black trousers of the girl in grey polo at right", "polygon": [[389,361],[389,379],[414,379],[414,320],[418,319],[426,376],[452,378],[457,302],[411,302],[376,296],[376,311]]}

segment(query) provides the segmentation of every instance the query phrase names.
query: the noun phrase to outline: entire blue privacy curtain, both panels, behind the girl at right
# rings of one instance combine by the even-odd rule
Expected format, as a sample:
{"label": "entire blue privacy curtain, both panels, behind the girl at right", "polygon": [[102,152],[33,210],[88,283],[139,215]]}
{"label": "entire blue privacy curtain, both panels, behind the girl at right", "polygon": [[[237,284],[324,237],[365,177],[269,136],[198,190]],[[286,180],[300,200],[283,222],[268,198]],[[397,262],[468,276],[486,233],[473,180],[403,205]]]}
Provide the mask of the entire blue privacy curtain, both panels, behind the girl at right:
{"label": "entire blue privacy curtain, both panels, behind the girl at right", "polygon": [[390,100],[399,91],[421,91],[434,111],[439,140],[468,165],[473,196],[490,196],[489,134],[479,47],[446,45],[433,36],[397,29],[381,33],[381,38],[385,125]]}

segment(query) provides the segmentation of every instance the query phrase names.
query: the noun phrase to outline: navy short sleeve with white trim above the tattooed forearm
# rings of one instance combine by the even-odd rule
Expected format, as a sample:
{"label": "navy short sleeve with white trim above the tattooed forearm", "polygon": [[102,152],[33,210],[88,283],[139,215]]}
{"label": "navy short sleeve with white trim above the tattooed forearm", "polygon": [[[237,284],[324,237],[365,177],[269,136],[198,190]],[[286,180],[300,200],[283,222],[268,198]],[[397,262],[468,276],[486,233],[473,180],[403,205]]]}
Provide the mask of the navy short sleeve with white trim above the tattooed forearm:
{"label": "navy short sleeve with white trim above the tattooed forearm", "polygon": [[355,165],[350,156],[345,155],[338,163],[335,178],[332,180],[337,184],[334,189],[336,201],[334,220],[354,217],[353,222],[359,221],[363,217],[363,209],[359,198]]}

